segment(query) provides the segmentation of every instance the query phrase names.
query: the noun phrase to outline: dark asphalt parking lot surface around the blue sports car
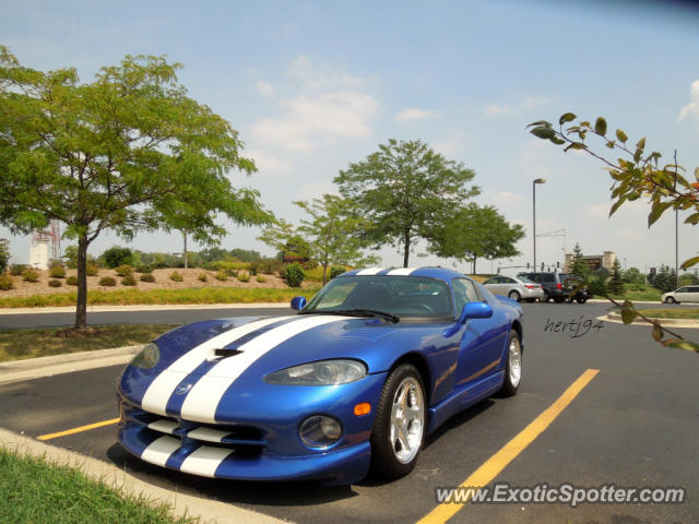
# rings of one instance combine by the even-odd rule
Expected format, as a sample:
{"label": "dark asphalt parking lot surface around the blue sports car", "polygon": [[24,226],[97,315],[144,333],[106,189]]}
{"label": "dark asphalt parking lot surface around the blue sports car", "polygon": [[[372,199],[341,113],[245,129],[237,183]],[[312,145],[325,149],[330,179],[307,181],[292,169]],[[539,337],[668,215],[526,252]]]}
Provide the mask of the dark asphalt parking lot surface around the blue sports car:
{"label": "dark asphalt parking lot surface around the blue sports car", "polygon": [[[48,443],[111,462],[158,486],[298,523],[442,522],[435,513],[436,488],[457,487],[482,471],[518,487],[683,487],[687,496],[682,504],[450,504],[449,522],[697,522],[699,356],[663,348],[649,327],[604,322],[578,337],[545,331],[552,321],[594,319],[604,312],[602,303],[523,307],[519,394],[486,400],[451,419],[429,437],[416,469],[389,484],[370,478],[348,487],[236,483],[142,463],[116,441],[120,366],[2,385],[0,426],[32,438],[48,436]],[[677,331],[699,338],[697,330]],[[498,473],[490,458],[588,370],[599,372]]]}

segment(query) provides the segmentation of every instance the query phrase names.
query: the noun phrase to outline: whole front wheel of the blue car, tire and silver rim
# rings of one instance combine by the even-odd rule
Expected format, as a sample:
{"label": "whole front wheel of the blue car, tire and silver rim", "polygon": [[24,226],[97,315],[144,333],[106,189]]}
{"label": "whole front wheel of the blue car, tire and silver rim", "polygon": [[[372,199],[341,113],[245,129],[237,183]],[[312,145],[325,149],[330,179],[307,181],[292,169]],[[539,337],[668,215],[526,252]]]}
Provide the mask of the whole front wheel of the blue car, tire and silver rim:
{"label": "whole front wheel of the blue car, tire and silver rim", "polygon": [[371,431],[371,471],[383,478],[407,475],[423,448],[425,386],[411,364],[391,371],[383,384]]}

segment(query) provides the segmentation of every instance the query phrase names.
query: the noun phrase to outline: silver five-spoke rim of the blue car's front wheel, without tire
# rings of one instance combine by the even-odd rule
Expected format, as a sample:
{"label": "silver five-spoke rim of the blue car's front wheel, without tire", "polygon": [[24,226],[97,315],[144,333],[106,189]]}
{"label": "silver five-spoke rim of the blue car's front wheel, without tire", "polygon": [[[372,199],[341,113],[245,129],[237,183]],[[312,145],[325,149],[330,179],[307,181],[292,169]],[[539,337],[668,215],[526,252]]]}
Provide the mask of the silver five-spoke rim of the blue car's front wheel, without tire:
{"label": "silver five-spoke rim of the blue car's front wheel, without tire", "polygon": [[391,405],[391,446],[400,463],[410,463],[419,452],[424,430],[423,389],[414,377],[405,377],[395,390]]}

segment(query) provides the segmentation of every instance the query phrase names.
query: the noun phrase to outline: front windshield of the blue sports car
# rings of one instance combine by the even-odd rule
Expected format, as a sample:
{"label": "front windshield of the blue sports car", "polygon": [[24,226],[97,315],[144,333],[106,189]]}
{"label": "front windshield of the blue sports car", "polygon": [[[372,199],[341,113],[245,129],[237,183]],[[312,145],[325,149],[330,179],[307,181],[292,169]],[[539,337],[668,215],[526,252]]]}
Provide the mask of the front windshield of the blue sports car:
{"label": "front windshield of the blue sports car", "polygon": [[303,313],[375,311],[401,319],[453,318],[449,287],[420,276],[342,276],[316,295]]}

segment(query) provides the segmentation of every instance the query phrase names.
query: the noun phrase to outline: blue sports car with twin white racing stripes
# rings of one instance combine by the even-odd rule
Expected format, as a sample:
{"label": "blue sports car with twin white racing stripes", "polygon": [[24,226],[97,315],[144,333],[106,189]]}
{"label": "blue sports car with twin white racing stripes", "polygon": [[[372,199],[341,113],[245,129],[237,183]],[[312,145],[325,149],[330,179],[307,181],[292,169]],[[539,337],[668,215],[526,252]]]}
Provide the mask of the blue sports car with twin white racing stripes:
{"label": "blue sports car with twin white racing stripes", "polygon": [[118,383],[119,441],[194,475],[352,484],[522,376],[522,309],[441,267],[344,273],[289,317],[173,330]]}

